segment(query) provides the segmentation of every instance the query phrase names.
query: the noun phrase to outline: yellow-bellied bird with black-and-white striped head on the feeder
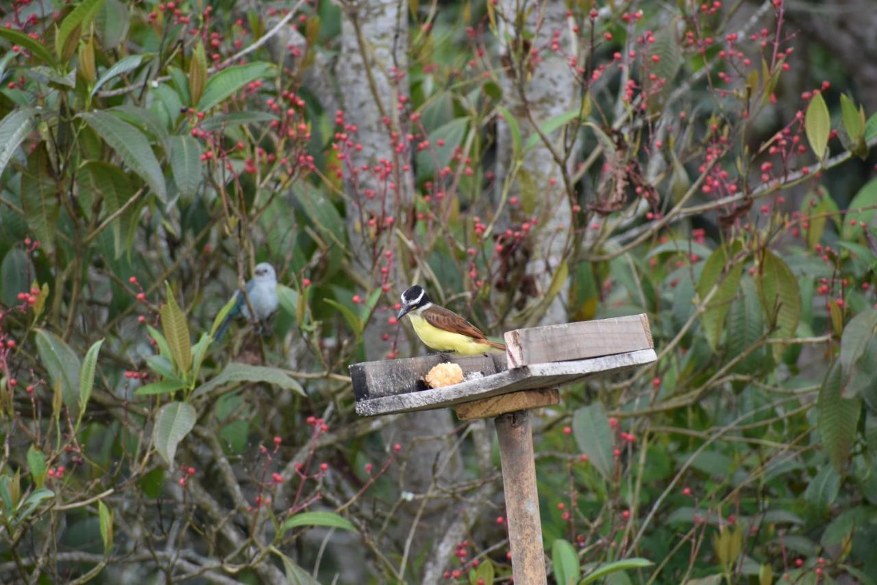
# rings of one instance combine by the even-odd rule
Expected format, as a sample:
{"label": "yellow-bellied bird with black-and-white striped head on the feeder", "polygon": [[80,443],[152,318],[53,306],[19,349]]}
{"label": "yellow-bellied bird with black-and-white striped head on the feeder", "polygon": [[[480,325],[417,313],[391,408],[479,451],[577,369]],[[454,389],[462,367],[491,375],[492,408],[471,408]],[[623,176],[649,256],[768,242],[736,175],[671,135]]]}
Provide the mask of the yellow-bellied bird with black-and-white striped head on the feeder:
{"label": "yellow-bellied bird with black-and-white striped head on the feeder", "polygon": [[458,356],[477,356],[489,350],[505,351],[503,343],[490,341],[459,314],[434,305],[423,286],[410,286],[402,293],[402,308],[396,319],[408,315],[414,332],[427,347]]}

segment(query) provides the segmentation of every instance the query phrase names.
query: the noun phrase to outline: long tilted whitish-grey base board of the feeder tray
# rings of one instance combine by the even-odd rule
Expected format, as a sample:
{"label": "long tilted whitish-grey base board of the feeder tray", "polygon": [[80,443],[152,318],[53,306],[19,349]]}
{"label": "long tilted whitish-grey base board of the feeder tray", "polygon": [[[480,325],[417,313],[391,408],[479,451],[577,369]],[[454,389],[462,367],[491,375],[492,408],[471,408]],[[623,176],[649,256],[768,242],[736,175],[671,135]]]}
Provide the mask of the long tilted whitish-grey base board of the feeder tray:
{"label": "long tilted whitish-grey base board of the feeder tray", "polygon": [[563,386],[591,376],[608,375],[638,365],[651,364],[656,359],[655,351],[650,349],[602,358],[527,365],[453,386],[358,400],[356,412],[362,416],[375,416],[449,407],[497,394]]}

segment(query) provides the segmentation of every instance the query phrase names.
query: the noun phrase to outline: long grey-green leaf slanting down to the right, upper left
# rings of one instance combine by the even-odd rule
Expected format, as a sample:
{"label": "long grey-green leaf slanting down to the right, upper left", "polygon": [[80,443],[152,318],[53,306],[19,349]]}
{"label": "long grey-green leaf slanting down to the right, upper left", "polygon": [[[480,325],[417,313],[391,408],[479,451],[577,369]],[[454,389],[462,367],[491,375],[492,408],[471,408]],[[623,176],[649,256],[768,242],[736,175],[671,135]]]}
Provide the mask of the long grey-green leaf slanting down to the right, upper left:
{"label": "long grey-green leaf slanting down to the right, upper left", "polygon": [[122,161],[149,185],[159,199],[167,199],[164,173],[142,132],[109,112],[87,112],[79,114],[79,117],[116,151]]}

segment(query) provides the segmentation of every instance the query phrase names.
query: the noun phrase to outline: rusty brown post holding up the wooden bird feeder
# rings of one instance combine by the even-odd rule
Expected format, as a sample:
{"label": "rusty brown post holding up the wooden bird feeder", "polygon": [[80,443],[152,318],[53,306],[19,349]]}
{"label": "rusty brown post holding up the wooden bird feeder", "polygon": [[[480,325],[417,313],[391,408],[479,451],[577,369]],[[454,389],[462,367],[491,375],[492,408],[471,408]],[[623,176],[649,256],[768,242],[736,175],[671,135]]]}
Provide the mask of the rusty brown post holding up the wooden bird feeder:
{"label": "rusty brown post holding up the wooden bird feeder", "polygon": [[544,585],[548,581],[545,576],[545,553],[542,552],[542,523],[539,520],[530,413],[517,410],[499,415],[495,421],[503,465],[511,573],[515,575],[515,582],[521,585]]}

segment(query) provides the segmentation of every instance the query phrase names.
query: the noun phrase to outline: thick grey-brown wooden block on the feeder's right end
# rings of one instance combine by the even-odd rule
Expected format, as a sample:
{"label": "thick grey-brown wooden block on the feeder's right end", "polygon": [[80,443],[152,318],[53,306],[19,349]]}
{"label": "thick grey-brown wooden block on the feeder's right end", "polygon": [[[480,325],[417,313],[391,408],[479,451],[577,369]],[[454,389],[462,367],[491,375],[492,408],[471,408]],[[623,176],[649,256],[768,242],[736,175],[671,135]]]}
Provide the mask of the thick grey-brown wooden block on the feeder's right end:
{"label": "thick grey-brown wooden block on the feeder's right end", "polygon": [[506,332],[505,344],[509,368],[654,347],[645,314],[515,329]]}

